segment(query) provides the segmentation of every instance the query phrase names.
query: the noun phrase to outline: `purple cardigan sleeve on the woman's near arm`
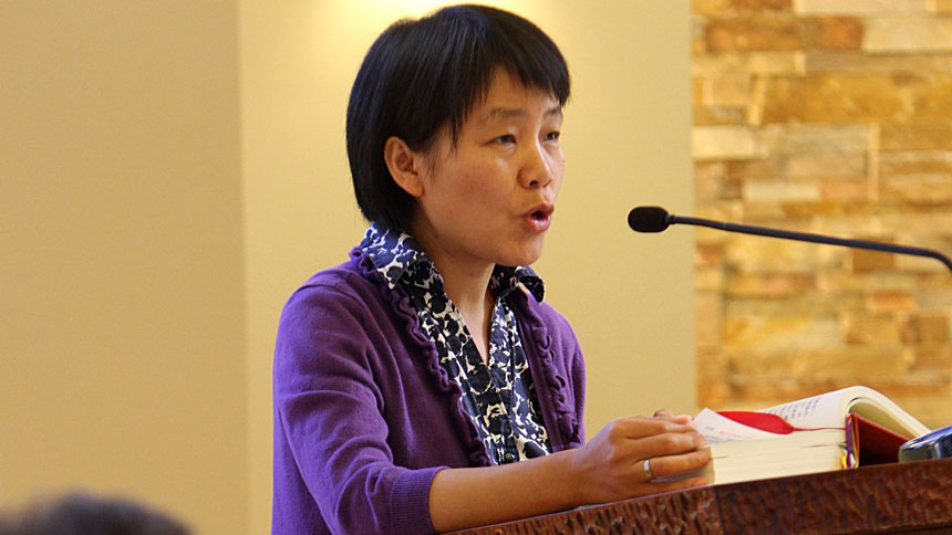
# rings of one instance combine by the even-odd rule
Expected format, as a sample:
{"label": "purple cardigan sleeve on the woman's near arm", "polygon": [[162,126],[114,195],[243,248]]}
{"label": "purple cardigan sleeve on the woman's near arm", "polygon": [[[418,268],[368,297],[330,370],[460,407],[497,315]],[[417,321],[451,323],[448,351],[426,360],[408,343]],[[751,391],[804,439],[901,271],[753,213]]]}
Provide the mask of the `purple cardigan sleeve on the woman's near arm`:
{"label": "purple cardigan sleeve on the woman's near arm", "polygon": [[442,466],[394,465],[373,374],[386,347],[375,325],[334,285],[304,286],[288,302],[275,353],[275,426],[293,466],[276,473],[297,472],[332,533],[432,533],[430,486]]}

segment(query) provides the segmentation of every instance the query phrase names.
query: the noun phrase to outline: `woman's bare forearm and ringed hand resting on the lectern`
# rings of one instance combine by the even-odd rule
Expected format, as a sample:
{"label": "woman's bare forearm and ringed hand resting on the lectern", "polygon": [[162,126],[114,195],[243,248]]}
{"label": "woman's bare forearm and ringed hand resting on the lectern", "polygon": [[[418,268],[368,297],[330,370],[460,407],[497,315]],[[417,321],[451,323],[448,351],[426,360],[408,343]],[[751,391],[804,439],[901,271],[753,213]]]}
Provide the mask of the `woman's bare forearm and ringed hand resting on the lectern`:
{"label": "woman's bare forearm and ringed hand resting on the lectern", "polygon": [[430,489],[433,526],[448,532],[706,484],[652,481],[710,460],[706,450],[697,451],[704,439],[690,422],[668,411],[621,418],[581,448],[498,466],[441,470]]}

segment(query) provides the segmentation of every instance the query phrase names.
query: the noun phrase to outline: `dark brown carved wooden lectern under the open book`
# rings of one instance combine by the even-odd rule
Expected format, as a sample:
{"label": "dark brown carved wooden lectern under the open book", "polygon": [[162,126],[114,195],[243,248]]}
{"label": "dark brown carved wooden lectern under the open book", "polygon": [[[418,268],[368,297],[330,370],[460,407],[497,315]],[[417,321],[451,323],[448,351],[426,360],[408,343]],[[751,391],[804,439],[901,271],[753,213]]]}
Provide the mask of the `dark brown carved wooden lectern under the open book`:
{"label": "dark brown carved wooden lectern under the open book", "polygon": [[466,535],[952,534],[952,459],[656,494]]}

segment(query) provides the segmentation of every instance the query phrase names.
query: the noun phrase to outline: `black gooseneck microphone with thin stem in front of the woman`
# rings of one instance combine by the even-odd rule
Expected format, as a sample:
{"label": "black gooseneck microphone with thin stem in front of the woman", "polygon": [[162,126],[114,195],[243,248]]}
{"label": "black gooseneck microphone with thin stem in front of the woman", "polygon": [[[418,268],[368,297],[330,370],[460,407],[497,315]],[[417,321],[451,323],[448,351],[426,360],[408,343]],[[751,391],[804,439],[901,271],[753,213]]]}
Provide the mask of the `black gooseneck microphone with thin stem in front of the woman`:
{"label": "black gooseneck microphone with thin stem in front of the woman", "polygon": [[764,227],[753,227],[749,224],[726,223],[722,221],[712,221],[701,218],[685,218],[668,213],[668,210],[661,207],[638,207],[628,213],[628,224],[637,232],[661,232],[672,224],[693,224],[697,227],[708,227],[712,229],[726,230],[728,232],[741,232],[743,234],[764,235],[767,238],[780,238],[783,240],[807,241],[811,243],[822,243],[826,245],[840,245],[852,249],[868,249],[870,251],[881,251],[897,254],[911,254],[913,256],[925,256],[935,259],[950,271],[952,271],[952,260],[949,256],[933,251],[932,249],[910,248],[906,245],[897,245],[893,243],[883,243],[868,240],[847,240],[842,238],[834,238],[822,234],[811,234],[808,232],[794,232],[789,230],[767,229]]}

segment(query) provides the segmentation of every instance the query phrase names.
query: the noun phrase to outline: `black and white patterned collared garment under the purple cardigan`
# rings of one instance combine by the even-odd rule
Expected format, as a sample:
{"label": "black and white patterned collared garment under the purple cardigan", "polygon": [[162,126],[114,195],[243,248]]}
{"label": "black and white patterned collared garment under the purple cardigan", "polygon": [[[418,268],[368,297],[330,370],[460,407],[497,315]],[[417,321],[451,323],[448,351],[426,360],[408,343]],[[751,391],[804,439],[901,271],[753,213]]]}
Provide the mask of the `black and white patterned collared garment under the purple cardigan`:
{"label": "black and white patterned collared garment under the purple cardigan", "polygon": [[360,248],[391,290],[400,285],[407,293],[423,332],[436,346],[439,365],[463,390],[463,409],[489,459],[501,464],[549,453],[516,316],[505,300],[521,284],[541,302],[545,289],[539,275],[528,266],[497,265],[493,271],[489,292],[495,306],[486,365],[463,315],[443,290],[443,277],[413,237],[374,223]]}

